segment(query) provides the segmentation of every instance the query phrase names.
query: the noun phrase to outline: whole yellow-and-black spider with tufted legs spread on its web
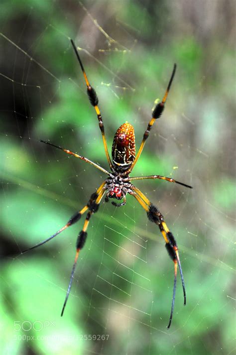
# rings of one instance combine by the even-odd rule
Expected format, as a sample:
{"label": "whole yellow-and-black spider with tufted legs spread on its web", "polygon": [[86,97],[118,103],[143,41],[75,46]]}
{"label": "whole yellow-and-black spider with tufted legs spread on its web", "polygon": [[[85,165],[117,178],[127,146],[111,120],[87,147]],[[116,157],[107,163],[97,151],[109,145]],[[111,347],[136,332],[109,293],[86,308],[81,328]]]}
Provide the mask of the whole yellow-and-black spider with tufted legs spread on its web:
{"label": "whole yellow-and-black spider with tufted legs spread on its web", "polygon": [[[74,260],[74,264],[72,267],[72,272],[71,272],[71,277],[70,277],[70,282],[69,282],[69,286],[67,289],[67,293],[66,293],[66,297],[65,297],[65,301],[62,307],[62,312],[61,312],[61,316],[63,316],[64,310],[65,310],[65,306],[70,294],[70,290],[71,290],[71,286],[72,286],[72,281],[74,278],[74,273],[75,273],[75,268],[76,268],[76,263],[78,260],[78,256],[79,256],[79,252],[80,250],[83,248],[85,242],[86,242],[86,238],[87,238],[87,228],[89,225],[89,221],[91,216],[98,212],[100,203],[102,201],[102,198],[105,196],[105,201],[108,202],[109,199],[115,199],[115,200],[122,200],[122,203],[116,203],[115,201],[112,201],[112,204],[116,207],[120,207],[126,204],[126,195],[129,194],[131,196],[133,196],[137,202],[141,205],[141,207],[146,211],[147,214],[147,218],[150,222],[154,222],[158,227],[159,230],[165,240],[165,247],[167,249],[167,252],[170,256],[170,258],[173,260],[174,262],[174,286],[173,286],[173,296],[172,296],[172,304],[171,304],[171,313],[170,313],[170,318],[169,318],[169,324],[167,326],[167,329],[170,328],[171,325],[171,321],[172,321],[172,317],[173,317],[173,311],[174,311],[174,303],[175,303],[175,292],[176,292],[176,280],[177,280],[177,268],[179,266],[179,270],[180,270],[180,276],[181,276],[181,281],[182,281],[182,287],[183,287],[183,294],[184,294],[184,305],[186,305],[186,292],[185,292],[185,284],[184,284],[184,278],[183,278],[183,273],[182,273],[182,268],[181,268],[181,264],[180,264],[180,259],[179,259],[179,252],[178,252],[178,247],[177,247],[177,243],[176,240],[173,236],[173,234],[170,232],[170,230],[168,229],[166,223],[164,222],[163,216],[160,213],[160,211],[158,210],[157,207],[155,207],[148,199],[147,197],[137,188],[135,187],[131,181],[134,180],[144,180],[144,179],[161,179],[161,180],[166,180],[169,182],[173,182],[173,183],[177,183],[180,185],[183,185],[185,187],[188,188],[192,188],[192,186],[186,185],[182,182],[176,181],[172,178],[169,177],[165,177],[165,176],[160,176],[160,175],[151,175],[151,176],[139,176],[139,177],[130,177],[129,174],[131,173],[131,171],[133,170],[135,164],[137,163],[141,152],[143,150],[143,147],[145,145],[145,142],[149,136],[149,132],[150,129],[153,125],[153,123],[155,122],[155,120],[157,118],[160,118],[164,107],[165,107],[165,102],[175,75],[175,71],[176,71],[176,64],[174,64],[174,68],[171,74],[171,78],[167,87],[167,90],[165,92],[165,95],[162,99],[162,101],[160,103],[158,103],[154,110],[152,111],[152,118],[149,121],[147,128],[144,132],[143,135],[143,139],[141,142],[141,145],[139,147],[139,150],[137,152],[135,152],[135,136],[134,136],[134,128],[133,126],[128,123],[125,122],[123,124],[121,124],[121,126],[118,128],[118,130],[116,131],[116,134],[114,136],[114,140],[113,140],[113,146],[112,146],[112,160],[110,158],[109,152],[108,152],[108,146],[107,146],[107,140],[105,137],[105,129],[104,129],[104,124],[103,124],[103,119],[101,116],[101,112],[100,109],[98,107],[98,97],[96,94],[96,91],[94,90],[94,88],[90,85],[90,82],[88,80],[87,74],[85,72],[84,66],[82,64],[82,61],[80,59],[78,50],[73,42],[73,40],[71,39],[71,44],[74,48],[75,54],[77,56],[77,59],[80,63],[80,67],[87,85],[87,94],[89,97],[89,101],[91,103],[91,105],[94,107],[96,114],[97,114],[97,118],[99,121],[99,127],[102,133],[102,138],[103,138],[103,144],[104,144],[104,148],[105,148],[105,153],[106,153],[106,157],[111,169],[111,172],[107,171],[106,169],[104,169],[103,167],[101,167],[100,165],[94,163],[93,161],[85,158],[84,156],[81,156],[77,153],[73,153],[72,151],[70,151],[69,149],[64,149],[60,146],[57,146],[55,144],[52,144],[48,141],[44,141],[44,140],[40,140],[41,142],[45,143],[45,144],[49,144],[53,147],[56,147],[58,149],[63,150],[65,153],[67,154],[71,154],[81,160],[84,160],[86,163],[89,163],[93,166],[95,166],[97,169],[99,169],[100,171],[102,171],[103,173],[107,174],[107,178],[105,179],[105,181],[99,186],[99,188],[96,190],[96,192],[94,192],[88,203],[78,212],[76,212],[67,222],[67,224],[62,227],[58,232],[56,232],[55,234],[53,234],[51,237],[43,240],[42,242],[22,251],[22,253],[34,249],[44,243],[46,243],[47,241],[51,240],[52,238],[56,237],[59,233],[61,233],[62,231],[64,231],[65,229],[67,229],[68,227],[74,225],[76,222],[78,222],[81,218],[81,216],[86,212],[86,219],[85,219],[85,223],[83,226],[82,231],[79,233],[78,238],[77,238],[77,242],[76,242],[76,255],[75,255],[75,260]],[[21,253],[21,254],[22,254]]]}

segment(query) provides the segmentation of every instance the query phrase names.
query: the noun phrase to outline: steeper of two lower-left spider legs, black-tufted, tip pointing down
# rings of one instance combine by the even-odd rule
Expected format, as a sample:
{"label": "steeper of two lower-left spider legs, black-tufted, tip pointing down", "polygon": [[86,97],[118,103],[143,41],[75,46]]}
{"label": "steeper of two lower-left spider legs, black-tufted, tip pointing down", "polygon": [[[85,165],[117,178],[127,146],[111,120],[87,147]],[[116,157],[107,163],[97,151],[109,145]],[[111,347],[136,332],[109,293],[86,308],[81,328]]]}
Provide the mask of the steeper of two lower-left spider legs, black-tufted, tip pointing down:
{"label": "steeper of two lower-left spider legs, black-tufted, tip pointing down", "polygon": [[61,317],[63,316],[64,310],[65,310],[65,307],[66,307],[66,303],[67,303],[67,300],[68,300],[68,297],[69,297],[69,294],[70,294],[71,285],[72,285],[72,281],[73,281],[73,278],[74,278],[74,273],[75,273],[75,268],[76,268],[76,263],[77,263],[77,260],[78,260],[79,252],[83,248],[83,246],[84,246],[84,244],[86,242],[86,238],[87,238],[87,232],[86,231],[87,231],[87,228],[88,228],[88,225],[89,225],[90,218],[91,218],[91,216],[94,213],[96,213],[98,211],[99,204],[100,204],[105,192],[106,192],[106,188],[105,187],[101,188],[100,193],[97,194],[97,197],[95,199],[93,199],[93,200],[90,200],[92,202],[90,203],[90,206],[89,206],[89,212],[87,213],[86,220],[85,220],[85,223],[84,223],[84,227],[83,227],[82,231],[79,233],[78,238],[77,238],[77,242],[76,242],[75,260],[74,260],[74,264],[73,264],[72,271],[71,271],[71,277],[70,277],[69,286],[68,286],[68,289],[67,289],[67,292],[66,292],[66,298],[65,298],[65,301],[64,301],[64,304],[63,304],[63,307],[62,307],[62,311],[61,311]]}

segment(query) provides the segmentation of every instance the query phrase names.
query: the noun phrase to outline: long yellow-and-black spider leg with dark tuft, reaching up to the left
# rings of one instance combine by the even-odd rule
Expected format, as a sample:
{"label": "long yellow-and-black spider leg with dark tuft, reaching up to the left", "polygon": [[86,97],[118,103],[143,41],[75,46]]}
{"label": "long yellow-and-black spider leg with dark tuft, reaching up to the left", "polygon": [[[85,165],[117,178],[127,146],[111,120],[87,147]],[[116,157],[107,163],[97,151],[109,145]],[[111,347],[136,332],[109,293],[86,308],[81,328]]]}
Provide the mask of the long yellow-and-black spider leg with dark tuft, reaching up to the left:
{"label": "long yellow-and-black spider leg with dark tuft, reaching up to the left", "polygon": [[110,155],[109,155],[109,152],[108,152],[108,145],[107,145],[107,140],[106,140],[106,136],[105,136],[103,118],[101,116],[101,112],[100,112],[99,107],[98,107],[98,103],[99,103],[98,96],[97,96],[97,93],[94,90],[94,88],[92,88],[92,86],[89,83],[88,77],[87,77],[87,75],[85,73],[85,69],[84,69],[83,63],[82,63],[82,61],[80,59],[80,56],[79,56],[79,52],[78,52],[78,50],[77,50],[77,48],[75,46],[75,43],[74,43],[74,41],[72,39],[71,39],[71,44],[72,44],[72,46],[74,48],[75,54],[76,54],[77,59],[78,59],[78,61],[80,63],[80,67],[81,67],[81,70],[82,70],[84,78],[85,78],[89,101],[90,101],[91,105],[95,108],[95,111],[96,111],[96,114],[97,114],[97,117],[98,117],[98,121],[99,121],[99,128],[101,130],[102,137],[103,137],[103,144],[104,144],[107,160],[108,160],[110,168],[113,170],[112,161],[111,161],[111,158],[110,158]]}

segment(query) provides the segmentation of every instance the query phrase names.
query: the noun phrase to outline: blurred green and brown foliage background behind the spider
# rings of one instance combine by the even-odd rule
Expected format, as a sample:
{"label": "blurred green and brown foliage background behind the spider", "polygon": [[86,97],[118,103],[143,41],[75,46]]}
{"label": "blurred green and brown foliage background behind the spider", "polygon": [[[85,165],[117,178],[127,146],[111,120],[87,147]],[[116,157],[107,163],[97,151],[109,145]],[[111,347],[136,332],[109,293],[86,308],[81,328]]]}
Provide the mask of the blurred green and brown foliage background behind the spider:
{"label": "blurred green and brown foliage background behind the spider", "polygon": [[[0,9],[2,354],[234,354],[235,1],[2,0]],[[83,219],[20,255],[105,178],[39,139],[108,167],[69,38],[99,95],[109,149],[126,120],[140,144],[177,63],[132,173],[194,187],[136,183],[180,250],[187,305],[178,277],[168,331],[173,263],[132,197],[119,209],[103,202],[91,219],[63,318]]]}

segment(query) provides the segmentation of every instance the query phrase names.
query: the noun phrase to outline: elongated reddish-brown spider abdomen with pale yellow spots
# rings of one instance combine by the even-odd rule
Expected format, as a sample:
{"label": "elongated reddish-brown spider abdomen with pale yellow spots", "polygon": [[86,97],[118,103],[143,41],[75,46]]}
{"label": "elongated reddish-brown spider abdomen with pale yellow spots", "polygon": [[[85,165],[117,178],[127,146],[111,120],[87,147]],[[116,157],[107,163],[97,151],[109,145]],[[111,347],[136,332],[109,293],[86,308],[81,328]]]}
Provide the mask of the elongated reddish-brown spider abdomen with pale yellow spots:
{"label": "elongated reddish-brown spider abdomen with pale yellow spots", "polygon": [[135,136],[132,124],[125,122],[116,131],[112,159],[117,170],[127,170],[135,159]]}

